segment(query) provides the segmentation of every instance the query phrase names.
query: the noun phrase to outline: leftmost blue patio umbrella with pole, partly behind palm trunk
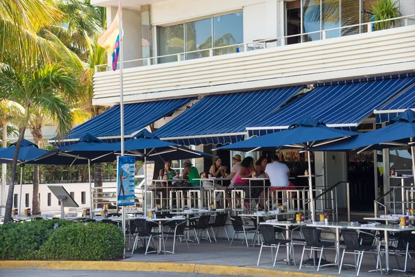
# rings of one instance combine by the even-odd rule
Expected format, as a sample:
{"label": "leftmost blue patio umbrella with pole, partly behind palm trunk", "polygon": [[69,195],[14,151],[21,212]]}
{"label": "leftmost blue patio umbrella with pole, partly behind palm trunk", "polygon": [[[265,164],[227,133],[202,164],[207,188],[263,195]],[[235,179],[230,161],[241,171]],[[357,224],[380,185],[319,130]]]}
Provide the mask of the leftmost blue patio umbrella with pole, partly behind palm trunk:
{"label": "leftmost blue patio umbrella with pole, partly behind palm trunk", "polygon": [[[16,144],[12,143],[8,148],[0,149],[0,163],[12,163],[13,157],[15,156]],[[35,159],[43,154],[47,153],[45,150],[40,150],[35,143],[23,139],[19,149],[19,155],[17,156],[18,163],[23,163],[30,159]],[[21,208],[21,184],[23,179],[23,165],[20,168],[20,199],[19,199],[19,213]]]}

